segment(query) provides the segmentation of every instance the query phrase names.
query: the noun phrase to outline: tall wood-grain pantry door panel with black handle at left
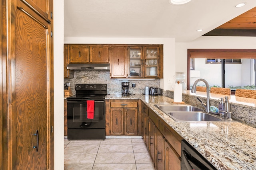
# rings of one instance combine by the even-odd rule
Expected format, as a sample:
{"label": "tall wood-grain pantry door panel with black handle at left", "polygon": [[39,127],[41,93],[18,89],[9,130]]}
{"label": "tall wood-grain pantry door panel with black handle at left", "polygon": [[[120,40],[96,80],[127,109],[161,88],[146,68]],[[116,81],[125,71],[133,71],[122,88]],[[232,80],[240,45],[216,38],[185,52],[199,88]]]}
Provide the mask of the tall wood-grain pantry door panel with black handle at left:
{"label": "tall wood-grain pantry door panel with black handle at left", "polygon": [[[47,169],[47,29],[20,10],[15,19],[16,169]],[[33,148],[36,130],[38,152]]]}

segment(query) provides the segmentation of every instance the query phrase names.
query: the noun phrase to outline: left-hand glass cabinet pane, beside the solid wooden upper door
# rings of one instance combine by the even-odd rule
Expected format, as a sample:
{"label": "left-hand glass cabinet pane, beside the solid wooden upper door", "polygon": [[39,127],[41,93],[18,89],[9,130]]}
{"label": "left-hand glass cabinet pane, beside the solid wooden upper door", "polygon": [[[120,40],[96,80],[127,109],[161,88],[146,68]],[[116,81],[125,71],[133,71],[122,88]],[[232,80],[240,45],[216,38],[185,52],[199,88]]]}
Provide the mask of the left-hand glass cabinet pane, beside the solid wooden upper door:
{"label": "left-hand glass cabinet pane, beside the solid wooden upper door", "polygon": [[142,77],[142,47],[130,47],[128,59],[128,77]]}

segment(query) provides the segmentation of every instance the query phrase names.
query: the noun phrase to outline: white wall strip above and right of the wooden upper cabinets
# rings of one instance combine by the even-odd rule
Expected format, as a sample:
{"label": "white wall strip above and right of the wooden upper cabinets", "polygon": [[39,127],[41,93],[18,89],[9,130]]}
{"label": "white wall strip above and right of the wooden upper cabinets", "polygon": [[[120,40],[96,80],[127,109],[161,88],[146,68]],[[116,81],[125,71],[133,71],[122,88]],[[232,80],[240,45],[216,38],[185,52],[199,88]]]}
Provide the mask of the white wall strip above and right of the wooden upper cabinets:
{"label": "white wall strip above and right of the wooden upper cabinets", "polygon": [[164,45],[164,79],[160,80],[160,88],[171,89],[169,80],[175,74],[175,39],[174,38],[93,38],[65,37],[64,43],[76,44],[163,44]]}

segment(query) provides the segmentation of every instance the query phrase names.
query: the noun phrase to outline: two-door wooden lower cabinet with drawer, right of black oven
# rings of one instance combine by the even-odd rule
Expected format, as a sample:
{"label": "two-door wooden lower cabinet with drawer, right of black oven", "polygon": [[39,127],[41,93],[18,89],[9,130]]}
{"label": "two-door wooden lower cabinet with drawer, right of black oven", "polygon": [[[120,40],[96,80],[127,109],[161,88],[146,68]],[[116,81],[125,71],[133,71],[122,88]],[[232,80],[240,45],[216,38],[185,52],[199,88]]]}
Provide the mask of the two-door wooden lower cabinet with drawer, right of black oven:
{"label": "two-door wooden lower cabinet with drawer, right of black oven", "polygon": [[106,135],[138,135],[138,100],[106,101]]}

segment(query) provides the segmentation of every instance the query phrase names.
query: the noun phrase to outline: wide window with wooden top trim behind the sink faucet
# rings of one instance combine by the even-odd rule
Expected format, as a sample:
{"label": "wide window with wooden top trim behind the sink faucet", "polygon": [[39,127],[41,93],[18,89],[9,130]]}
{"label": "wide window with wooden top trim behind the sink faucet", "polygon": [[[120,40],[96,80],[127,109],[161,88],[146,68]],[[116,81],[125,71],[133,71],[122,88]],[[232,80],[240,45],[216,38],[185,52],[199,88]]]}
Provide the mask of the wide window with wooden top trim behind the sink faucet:
{"label": "wide window with wooden top trim behind the sink faucet", "polygon": [[188,49],[188,87],[204,78],[210,87],[256,89],[255,59],[253,49]]}

